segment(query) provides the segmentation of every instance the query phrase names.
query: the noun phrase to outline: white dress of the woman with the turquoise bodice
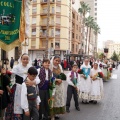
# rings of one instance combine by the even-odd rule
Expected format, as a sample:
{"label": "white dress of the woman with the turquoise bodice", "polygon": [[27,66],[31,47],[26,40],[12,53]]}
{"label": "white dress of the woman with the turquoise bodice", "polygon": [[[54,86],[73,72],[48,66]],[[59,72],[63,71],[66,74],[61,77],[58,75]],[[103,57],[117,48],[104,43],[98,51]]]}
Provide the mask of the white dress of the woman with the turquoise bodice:
{"label": "white dress of the woman with the turquoise bodice", "polygon": [[[91,66],[88,65],[86,66],[83,64],[81,66],[81,69],[85,69],[87,72],[89,69],[91,69]],[[84,79],[83,77],[80,77],[81,83],[80,83],[80,95],[79,97],[84,100],[89,100],[90,99],[90,91],[91,91],[91,80],[90,80],[90,75],[88,75],[87,79]]]}

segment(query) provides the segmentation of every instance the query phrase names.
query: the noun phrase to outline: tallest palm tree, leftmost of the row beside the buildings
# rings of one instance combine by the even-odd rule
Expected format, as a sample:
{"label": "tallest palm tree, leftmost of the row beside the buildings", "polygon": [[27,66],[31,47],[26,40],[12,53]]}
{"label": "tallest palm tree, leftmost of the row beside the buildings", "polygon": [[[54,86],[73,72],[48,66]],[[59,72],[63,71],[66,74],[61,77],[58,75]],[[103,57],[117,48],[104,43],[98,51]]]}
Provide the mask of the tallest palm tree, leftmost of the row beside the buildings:
{"label": "tallest palm tree, leftmost of the row beside the buildings", "polygon": [[[83,42],[83,39],[84,39],[84,33],[85,33],[85,30],[84,30],[84,27],[85,27],[85,16],[88,12],[90,12],[90,7],[89,7],[89,4],[86,4],[85,2],[81,1],[80,2],[81,4],[81,8],[78,9],[78,12],[81,14],[81,23],[82,23],[82,33],[81,33],[81,38],[82,38],[82,42]],[[82,43],[81,43],[81,49],[82,49]]]}

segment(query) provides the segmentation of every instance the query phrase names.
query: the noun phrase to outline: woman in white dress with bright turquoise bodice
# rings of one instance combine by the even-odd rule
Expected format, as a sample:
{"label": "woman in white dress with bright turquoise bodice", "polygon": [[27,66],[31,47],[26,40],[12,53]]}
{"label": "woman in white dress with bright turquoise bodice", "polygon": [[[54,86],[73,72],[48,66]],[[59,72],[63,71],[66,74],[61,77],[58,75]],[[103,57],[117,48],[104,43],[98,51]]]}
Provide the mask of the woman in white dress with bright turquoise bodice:
{"label": "woman in white dress with bright turquoise bodice", "polygon": [[91,90],[91,66],[89,65],[89,60],[87,58],[84,60],[80,69],[83,71],[83,74],[81,74],[80,98],[82,99],[82,103],[89,104]]}

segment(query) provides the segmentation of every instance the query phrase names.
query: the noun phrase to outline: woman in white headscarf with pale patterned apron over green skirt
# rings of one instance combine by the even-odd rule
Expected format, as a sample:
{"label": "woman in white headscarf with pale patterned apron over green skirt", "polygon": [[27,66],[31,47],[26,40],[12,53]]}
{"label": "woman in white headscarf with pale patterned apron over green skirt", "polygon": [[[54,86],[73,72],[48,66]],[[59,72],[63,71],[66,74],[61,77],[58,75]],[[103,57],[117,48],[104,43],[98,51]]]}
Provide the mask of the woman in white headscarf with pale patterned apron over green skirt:
{"label": "woman in white headscarf with pale patterned apron over green skirt", "polygon": [[57,76],[60,75],[60,73],[63,73],[62,67],[59,63],[59,56],[55,56],[51,59],[50,69],[53,72],[53,76],[56,78],[54,103],[53,108],[50,109],[50,115],[52,116],[52,119],[54,119],[54,116],[56,119],[59,119],[59,117],[56,115],[65,113],[64,85],[61,79],[57,79]]}

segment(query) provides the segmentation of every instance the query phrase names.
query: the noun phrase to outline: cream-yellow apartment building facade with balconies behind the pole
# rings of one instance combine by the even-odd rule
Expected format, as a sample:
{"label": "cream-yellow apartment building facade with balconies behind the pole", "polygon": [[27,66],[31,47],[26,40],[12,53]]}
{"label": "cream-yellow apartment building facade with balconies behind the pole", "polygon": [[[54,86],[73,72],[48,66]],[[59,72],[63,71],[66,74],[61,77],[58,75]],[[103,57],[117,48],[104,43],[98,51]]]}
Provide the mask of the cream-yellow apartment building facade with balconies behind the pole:
{"label": "cream-yellow apartment building facade with balconies behind the pole", "polygon": [[[72,0],[50,0],[48,54],[64,57],[71,51]],[[29,55],[43,59],[46,50],[47,0],[33,0],[30,6],[31,33]]]}

